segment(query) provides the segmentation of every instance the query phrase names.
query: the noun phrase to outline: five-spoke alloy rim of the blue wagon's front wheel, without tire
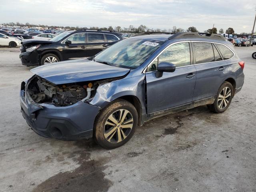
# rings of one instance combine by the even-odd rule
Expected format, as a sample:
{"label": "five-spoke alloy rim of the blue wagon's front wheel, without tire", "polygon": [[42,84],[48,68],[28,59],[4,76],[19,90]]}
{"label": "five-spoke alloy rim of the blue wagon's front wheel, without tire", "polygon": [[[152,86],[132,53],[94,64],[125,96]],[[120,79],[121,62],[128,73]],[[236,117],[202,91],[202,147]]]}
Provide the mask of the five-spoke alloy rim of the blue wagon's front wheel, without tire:
{"label": "five-spoke alloy rim of the blue wagon's front wheel, without tire", "polygon": [[116,110],[104,124],[104,137],[108,142],[119,143],[130,134],[132,127],[132,114],[126,109]]}

